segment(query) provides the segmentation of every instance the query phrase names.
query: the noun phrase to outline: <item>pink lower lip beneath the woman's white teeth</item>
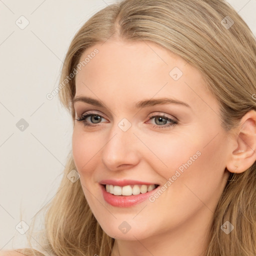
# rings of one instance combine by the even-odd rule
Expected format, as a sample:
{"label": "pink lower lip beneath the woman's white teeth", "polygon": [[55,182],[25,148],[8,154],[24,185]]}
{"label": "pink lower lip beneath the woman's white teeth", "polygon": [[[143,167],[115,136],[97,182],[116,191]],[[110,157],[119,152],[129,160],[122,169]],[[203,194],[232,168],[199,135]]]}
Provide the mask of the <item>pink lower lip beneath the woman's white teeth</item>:
{"label": "pink lower lip beneath the woman's white teeth", "polygon": [[143,194],[114,195],[114,194],[108,193],[104,185],[100,185],[100,186],[101,186],[105,201],[111,204],[112,206],[117,206],[117,207],[129,207],[137,203],[140,203],[142,201],[145,201],[152,193],[155,192],[155,189],[157,188],[156,187],[153,190]]}

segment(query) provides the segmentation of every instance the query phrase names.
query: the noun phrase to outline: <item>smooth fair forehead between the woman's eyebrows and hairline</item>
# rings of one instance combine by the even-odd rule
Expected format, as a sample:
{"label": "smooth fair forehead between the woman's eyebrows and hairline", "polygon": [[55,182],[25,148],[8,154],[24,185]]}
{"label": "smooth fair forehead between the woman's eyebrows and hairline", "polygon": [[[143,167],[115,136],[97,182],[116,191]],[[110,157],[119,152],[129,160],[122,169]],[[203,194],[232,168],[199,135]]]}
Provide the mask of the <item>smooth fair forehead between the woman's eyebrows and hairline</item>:
{"label": "smooth fair forehead between the woman's eyebrows and hairline", "polygon": [[118,95],[118,103],[153,96],[172,96],[189,105],[203,103],[200,98],[214,101],[196,68],[153,42],[106,41],[83,52],[80,61],[85,59],[77,70],[76,95]]}

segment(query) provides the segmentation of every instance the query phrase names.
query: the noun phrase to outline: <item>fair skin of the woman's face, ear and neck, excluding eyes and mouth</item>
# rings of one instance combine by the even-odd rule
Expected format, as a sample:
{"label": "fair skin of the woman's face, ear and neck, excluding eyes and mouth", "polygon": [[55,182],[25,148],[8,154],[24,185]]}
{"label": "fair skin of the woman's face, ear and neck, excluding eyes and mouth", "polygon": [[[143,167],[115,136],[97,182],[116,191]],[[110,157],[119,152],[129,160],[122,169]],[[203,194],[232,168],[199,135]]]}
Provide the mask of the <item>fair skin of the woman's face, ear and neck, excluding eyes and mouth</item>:
{"label": "fair skin of the woman's face, ear and neck, excluding eyes and mouth", "polygon": [[[232,135],[224,131],[217,100],[206,90],[201,73],[181,57],[149,41],[116,39],[95,44],[81,59],[94,48],[99,53],[76,74],[75,97],[98,99],[107,108],[74,103],[76,118],[88,110],[103,118],[93,127],[75,121],[72,149],[86,200],[102,229],[115,238],[111,256],[202,255],[229,171],[242,172],[255,161],[255,112],[242,119],[243,129],[250,132],[238,140],[241,126]],[[169,75],[174,67],[183,72],[178,80]],[[134,108],[140,100],[158,97],[175,98],[190,107]],[[178,119],[178,124],[158,128],[169,121],[161,124],[149,114],[164,114]],[[118,126],[123,118],[131,123],[127,131]],[[86,120],[93,125],[90,117]],[[119,208],[103,199],[101,179],[162,186],[197,151],[200,156],[154,202]],[[127,233],[118,228],[124,220],[131,226]]]}

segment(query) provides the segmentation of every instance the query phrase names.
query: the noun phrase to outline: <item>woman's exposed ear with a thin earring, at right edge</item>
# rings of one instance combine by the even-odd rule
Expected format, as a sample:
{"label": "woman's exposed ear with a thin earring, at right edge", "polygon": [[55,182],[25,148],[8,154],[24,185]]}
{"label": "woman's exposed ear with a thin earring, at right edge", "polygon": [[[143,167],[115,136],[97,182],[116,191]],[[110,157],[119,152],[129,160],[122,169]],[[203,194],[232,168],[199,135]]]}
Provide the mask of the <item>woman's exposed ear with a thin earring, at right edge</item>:
{"label": "woman's exposed ear with a thin earring, at right edge", "polygon": [[256,111],[248,111],[240,120],[231,138],[231,151],[226,168],[241,173],[256,160]]}

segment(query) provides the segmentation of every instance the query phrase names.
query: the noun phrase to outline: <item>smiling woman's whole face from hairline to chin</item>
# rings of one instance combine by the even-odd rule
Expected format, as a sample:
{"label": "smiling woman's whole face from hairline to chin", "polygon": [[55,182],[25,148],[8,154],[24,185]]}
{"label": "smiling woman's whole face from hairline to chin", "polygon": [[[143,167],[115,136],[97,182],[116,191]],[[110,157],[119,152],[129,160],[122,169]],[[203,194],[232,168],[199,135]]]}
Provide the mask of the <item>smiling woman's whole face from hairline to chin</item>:
{"label": "smiling woman's whole face from hairline to chin", "polygon": [[[75,120],[72,149],[100,226],[129,240],[206,230],[228,178],[230,143],[200,72],[148,41],[106,41],[80,60],[74,109],[76,118],[90,115]],[[159,186],[145,192],[154,187],[145,184]]]}

